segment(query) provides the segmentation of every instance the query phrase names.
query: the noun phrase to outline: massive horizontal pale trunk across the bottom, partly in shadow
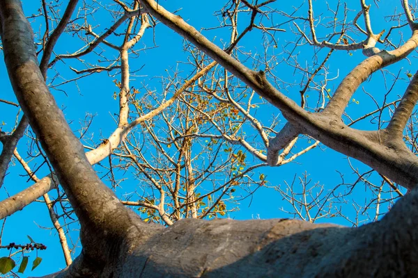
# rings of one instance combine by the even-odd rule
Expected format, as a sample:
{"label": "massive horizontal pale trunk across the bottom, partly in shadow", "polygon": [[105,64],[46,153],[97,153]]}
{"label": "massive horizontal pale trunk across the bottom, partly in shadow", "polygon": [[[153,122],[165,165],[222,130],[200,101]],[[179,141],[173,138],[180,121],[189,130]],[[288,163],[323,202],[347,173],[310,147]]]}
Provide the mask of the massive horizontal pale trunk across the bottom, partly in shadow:
{"label": "massive horizontal pale trunk across the bottom, partly in shadow", "polygon": [[[415,277],[418,191],[359,228],[301,220],[180,220],[92,277]],[[86,273],[79,257],[63,272]]]}

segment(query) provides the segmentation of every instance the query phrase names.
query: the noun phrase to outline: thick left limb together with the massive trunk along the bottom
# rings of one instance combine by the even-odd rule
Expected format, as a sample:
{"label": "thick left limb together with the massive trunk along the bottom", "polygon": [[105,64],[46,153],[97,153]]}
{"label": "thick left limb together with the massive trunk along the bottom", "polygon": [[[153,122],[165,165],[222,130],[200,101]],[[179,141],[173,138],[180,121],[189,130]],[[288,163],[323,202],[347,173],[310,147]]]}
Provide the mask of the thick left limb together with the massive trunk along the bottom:
{"label": "thick left limb together with the massive trunk along the bottom", "polygon": [[0,19],[13,89],[82,226],[82,254],[67,270],[50,277],[414,277],[418,273],[418,189],[380,222],[356,229],[286,219],[190,219],[167,229],[141,222],[95,175],[56,106],[39,70],[20,1],[1,1]]}

